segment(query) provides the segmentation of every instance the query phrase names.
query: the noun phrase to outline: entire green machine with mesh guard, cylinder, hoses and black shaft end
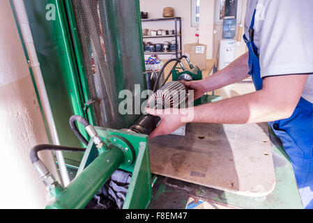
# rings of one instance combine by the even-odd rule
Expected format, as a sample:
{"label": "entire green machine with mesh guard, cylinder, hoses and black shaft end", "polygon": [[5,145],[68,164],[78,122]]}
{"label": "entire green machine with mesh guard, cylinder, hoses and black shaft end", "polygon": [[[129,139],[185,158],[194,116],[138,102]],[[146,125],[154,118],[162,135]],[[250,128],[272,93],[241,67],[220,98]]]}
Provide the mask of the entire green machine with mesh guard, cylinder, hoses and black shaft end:
{"label": "entire green machine with mesh guard, cylinder, hoses and black shaft end", "polygon": [[[24,4],[59,141],[66,145],[31,150],[33,167],[54,198],[47,208],[84,208],[116,170],[131,174],[121,208],[146,208],[152,194],[146,131],[157,120],[135,108],[119,112],[122,90],[137,105],[146,100],[140,98],[146,82],[139,0]],[[43,150],[63,152],[69,185],[49,174],[38,157]]]}

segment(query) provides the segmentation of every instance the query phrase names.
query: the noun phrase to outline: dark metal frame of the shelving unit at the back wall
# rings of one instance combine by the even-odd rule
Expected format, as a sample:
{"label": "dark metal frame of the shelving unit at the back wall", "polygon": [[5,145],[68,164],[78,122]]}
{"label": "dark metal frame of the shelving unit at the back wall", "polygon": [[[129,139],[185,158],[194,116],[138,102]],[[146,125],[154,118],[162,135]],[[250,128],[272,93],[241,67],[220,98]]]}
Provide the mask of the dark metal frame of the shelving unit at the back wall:
{"label": "dark metal frame of the shelving unit at the back wall", "polygon": [[[155,22],[155,21],[162,21],[162,20],[173,20],[175,26],[175,34],[174,35],[166,35],[166,36],[143,36],[143,38],[175,38],[176,42],[176,51],[175,52],[144,52],[144,54],[175,54],[176,58],[178,55],[181,56],[182,52],[182,43],[181,43],[181,17],[163,17],[163,18],[155,18],[155,19],[143,19],[142,22]],[[178,38],[179,38],[179,48],[178,45]]]}

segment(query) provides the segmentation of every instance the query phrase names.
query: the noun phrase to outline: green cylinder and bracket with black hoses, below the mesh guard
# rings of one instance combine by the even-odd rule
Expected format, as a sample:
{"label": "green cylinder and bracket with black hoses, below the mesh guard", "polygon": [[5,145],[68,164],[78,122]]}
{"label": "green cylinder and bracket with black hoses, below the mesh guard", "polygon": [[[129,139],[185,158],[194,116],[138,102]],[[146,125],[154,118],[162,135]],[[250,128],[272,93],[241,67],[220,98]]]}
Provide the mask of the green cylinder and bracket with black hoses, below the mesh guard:
{"label": "green cylinder and bracket with black hoses, below the mesh guard", "polygon": [[[38,145],[31,149],[33,167],[43,178],[43,183],[54,199],[54,202],[49,203],[46,208],[84,208],[116,169],[123,169],[132,174],[123,208],[147,208],[151,201],[147,135],[125,130],[93,128],[81,116],[72,116],[71,126],[76,126],[75,121],[82,123],[91,137],[86,150],[54,145]],[[63,187],[49,173],[38,157],[38,152],[43,150],[84,152],[79,171],[69,185]]]}

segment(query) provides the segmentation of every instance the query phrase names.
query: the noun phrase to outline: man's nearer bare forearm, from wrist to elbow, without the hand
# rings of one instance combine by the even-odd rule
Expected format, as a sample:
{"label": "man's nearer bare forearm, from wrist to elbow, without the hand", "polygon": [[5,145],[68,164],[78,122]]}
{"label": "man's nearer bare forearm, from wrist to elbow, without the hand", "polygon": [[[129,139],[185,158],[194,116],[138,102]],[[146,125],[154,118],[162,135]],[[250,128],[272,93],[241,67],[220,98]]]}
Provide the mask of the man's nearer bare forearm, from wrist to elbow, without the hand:
{"label": "man's nearer bare forearm, from wrist to elbow, without the hand", "polygon": [[290,111],[262,91],[194,107],[194,123],[261,123],[288,118]]}

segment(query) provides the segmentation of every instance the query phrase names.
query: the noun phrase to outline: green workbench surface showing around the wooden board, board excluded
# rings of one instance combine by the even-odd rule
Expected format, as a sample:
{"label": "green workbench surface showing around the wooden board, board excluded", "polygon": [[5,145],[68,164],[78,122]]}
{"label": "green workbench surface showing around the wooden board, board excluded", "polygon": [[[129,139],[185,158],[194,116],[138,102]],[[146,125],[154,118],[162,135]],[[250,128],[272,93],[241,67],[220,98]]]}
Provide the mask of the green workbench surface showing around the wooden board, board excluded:
{"label": "green workbench surface showing around the wooden board, board excluded", "polygon": [[275,188],[269,194],[244,196],[155,174],[153,197],[148,208],[303,208],[289,157],[271,129],[269,139],[275,169]]}

